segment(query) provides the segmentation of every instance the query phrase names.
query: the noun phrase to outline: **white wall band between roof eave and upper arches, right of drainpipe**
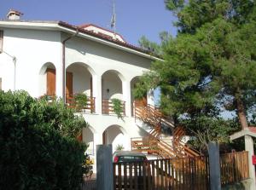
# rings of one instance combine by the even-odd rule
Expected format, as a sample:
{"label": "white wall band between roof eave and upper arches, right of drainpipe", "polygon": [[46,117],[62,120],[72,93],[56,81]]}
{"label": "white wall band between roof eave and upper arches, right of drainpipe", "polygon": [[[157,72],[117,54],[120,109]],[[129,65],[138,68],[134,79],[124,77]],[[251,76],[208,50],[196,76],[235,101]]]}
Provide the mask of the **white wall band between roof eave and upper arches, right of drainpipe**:
{"label": "white wall band between roof eave and upper arches, right of drainpipe", "polygon": [[84,62],[99,76],[113,70],[121,73],[125,80],[131,81],[131,78],[141,76],[143,71],[148,70],[151,60],[74,37],[67,41],[67,66],[73,62]]}

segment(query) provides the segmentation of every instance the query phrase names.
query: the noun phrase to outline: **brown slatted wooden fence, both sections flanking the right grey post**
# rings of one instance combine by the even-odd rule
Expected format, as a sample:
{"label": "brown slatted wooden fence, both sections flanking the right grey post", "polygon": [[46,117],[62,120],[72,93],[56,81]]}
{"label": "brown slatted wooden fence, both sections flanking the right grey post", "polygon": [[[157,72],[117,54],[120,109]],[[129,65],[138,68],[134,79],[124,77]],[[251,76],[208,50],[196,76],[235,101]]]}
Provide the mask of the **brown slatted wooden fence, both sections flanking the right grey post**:
{"label": "brown slatted wooden fence, both sections flanking the right grey post", "polygon": [[[247,152],[221,155],[221,181],[248,178]],[[208,158],[168,158],[113,164],[114,189],[209,189]]]}

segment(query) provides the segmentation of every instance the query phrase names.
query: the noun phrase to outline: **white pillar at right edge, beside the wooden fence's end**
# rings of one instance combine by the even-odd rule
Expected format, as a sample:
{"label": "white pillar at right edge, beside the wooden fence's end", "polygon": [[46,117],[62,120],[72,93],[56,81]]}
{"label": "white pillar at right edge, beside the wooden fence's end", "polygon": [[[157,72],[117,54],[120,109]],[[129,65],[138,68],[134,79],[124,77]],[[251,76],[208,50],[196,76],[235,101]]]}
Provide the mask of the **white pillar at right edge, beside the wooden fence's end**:
{"label": "white pillar at right edge, beside the wooden fence's end", "polygon": [[255,181],[255,168],[253,165],[253,154],[254,154],[254,150],[253,150],[253,138],[252,136],[249,135],[245,135],[244,137],[245,139],[245,149],[248,152],[248,167],[249,167],[249,177],[252,179],[252,183],[250,186],[250,190],[255,190],[256,189],[256,181]]}

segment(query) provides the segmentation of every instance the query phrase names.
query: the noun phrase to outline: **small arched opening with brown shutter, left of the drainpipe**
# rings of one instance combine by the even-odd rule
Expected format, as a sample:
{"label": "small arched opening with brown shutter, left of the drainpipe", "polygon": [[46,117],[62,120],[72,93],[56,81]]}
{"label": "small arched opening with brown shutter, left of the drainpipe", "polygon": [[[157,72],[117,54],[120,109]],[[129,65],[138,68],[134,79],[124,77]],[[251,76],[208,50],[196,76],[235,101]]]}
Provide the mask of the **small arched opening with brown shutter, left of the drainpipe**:
{"label": "small arched opening with brown shutter, left of the drainpipe", "polygon": [[56,69],[53,63],[45,63],[39,72],[39,95],[56,95]]}

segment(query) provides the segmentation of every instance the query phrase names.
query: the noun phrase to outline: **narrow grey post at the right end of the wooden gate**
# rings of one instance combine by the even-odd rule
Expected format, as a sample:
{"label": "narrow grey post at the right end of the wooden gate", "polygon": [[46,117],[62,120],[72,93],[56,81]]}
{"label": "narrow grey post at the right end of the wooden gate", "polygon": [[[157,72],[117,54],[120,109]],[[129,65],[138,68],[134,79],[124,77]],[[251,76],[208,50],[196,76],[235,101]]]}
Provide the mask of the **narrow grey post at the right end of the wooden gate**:
{"label": "narrow grey post at the right end of the wooden gate", "polygon": [[209,164],[210,164],[211,190],[221,190],[218,143],[214,141],[210,141],[208,143],[208,152],[209,152]]}

